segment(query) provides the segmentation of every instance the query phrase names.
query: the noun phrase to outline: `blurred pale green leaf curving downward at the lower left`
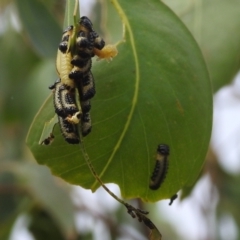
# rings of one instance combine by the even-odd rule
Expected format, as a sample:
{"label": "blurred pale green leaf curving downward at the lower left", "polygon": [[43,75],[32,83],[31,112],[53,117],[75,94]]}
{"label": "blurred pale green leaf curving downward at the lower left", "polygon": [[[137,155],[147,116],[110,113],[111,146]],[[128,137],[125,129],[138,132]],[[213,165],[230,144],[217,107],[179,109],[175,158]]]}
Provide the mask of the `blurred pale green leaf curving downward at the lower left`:
{"label": "blurred pale green leaf curving downward at the lower left", "polygon": [[57,182],[49,169],[26,162],[2,162],[1,169],[14,174],[18,186],[51,214],[66,239],[74,234],[74,206],[69,189]]}

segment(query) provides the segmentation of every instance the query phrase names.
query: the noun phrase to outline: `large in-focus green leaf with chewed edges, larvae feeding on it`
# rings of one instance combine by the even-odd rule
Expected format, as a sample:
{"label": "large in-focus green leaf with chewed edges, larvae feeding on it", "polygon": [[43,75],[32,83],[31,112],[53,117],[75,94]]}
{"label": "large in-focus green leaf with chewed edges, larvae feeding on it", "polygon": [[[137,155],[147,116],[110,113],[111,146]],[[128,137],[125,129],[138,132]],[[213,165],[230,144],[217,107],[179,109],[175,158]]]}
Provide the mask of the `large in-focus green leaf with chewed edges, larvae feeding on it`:
{"label": "large in-focus green leaf with chewed edges, larvae feeding on it", "polygon": [[[111,63],[93,67],[93,129],[84,145],[103,182],[117,183],[124,197],[169,198],[194,182],[207,151],[212,93],[206,66],[186,27],[163,3],[112,2],[126,26],[125,42]],[[58,126],[54,142],[39,145],[53,116],[50,97],[33,121],[28,146],[53,174],[96,190],[79,145],[67,144]],[[160,143],[170,146],[170,166],[161,188],[153,191],[148,186]]]}

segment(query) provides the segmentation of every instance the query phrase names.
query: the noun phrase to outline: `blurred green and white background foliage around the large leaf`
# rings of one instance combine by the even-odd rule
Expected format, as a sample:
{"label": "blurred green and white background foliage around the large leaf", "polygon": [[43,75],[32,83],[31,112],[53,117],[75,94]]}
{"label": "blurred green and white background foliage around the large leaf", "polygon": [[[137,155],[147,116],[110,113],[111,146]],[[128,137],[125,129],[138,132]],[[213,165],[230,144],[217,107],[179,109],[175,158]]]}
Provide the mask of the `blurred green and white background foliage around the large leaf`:
{"label": "blurred green and white background foliage around the large leaf", "polygon": [[[240,90],[237,80],[232,81],[240,66],[240,1],[163,2],[197,40],[216,96],[225,86],[230,89],[229,96],[235,96],[234,104],[223,96],[222,102],[229,105],[217,105],[215,109],[231,108],[232,112],[226,114],[239,119]],[[81,4],[90,16],[87,4],[91,4],[95,22],[107,6],[104,0]],[[91,194],[52,177],[47,168],[36,164],[25,145],[31,121],[50,94],[48,86],[56,79],[56,46],[64,9],[63,0],[0,1],[0,239],[146,239],[145,226],[133,221],[107,193],[100,189]],[[113,41],[120,37],[112,34]],[[164,240],[240,239],[240,170],[226,169],[219,161],[219,153],[225,148],[226,155],[221,158],[226,165],[230,164],[230,151],[236,152],[235,159],[240,162],[240,127],[236,122],[214,126],[213,140],[222,132],[227,134],[228,126],[233,130],[224,135],[228,137],[222,139],[222,145],[213,142],[195,189],[184,189],[185,199],[174,202],[171,212],[165,201],[142,206],[133,200],[133,204],[150,210]],[[182,211],[184,202],[191,213]],[[188,220],[191,216],[196,222]],[[28,235],[24,235],[26,232]]]}

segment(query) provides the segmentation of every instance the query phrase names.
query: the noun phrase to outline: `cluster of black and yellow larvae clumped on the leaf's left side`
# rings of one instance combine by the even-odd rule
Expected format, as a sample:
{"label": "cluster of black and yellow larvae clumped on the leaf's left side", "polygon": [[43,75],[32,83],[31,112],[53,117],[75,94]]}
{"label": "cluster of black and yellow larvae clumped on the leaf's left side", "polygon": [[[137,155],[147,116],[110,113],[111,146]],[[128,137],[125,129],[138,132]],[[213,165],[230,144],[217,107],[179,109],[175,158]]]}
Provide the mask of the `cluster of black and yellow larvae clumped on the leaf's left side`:
{"label": "cluster of black and yellow larvae clumped on the leaf's left side", "polygon": [[[75,39],[74,31],[78,31]],[[93,30],[92,22],[86,16],[80,18],[77,27],[69,26],[63,32],[56,60],[59,79],[49,88],[53,90],[62,135],[70,144],[80,142],[79,131],[83,137],[91,132],[90,99],[96,93],[91,73],[92,57],[101,54],[101,58],[108,60],[109,53],[105,53],[104,46],[104,40]],[[115,46],[112,52],[111,56],[116,56]]]}

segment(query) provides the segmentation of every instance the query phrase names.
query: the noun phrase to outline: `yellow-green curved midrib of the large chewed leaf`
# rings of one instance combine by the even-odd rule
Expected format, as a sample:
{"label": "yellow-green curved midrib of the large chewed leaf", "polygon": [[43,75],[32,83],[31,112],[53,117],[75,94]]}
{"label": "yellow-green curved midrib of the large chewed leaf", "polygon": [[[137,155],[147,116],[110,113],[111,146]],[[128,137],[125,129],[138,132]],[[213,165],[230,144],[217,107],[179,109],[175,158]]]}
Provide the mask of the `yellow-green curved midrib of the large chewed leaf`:
{"label": "yellow-green curved midrib of the large chewed leaf", "polygon": [[[108,169],[109,165],[111,164],[111,162],[112,162],[112,160],[113,160],[117,150],[121,146],[121,143],[123,141],[124,136],[126,135],[126,132],[127,132],[128,128],[130,126],[130,123],[131,123],[131,120],[132,120],[132,117],[133,117],[133,113],[134,113],[134,110],[135,110],[136,105],[137,105],[138,92],[139,92],[139,83],[140,83],[139,62],[138,62],[138,56],[137,56],[137,51],[136,51],[136,46],[135,46],[135,40],[134,40],[134,36],[133,36],[131,25],[130,25],[130,23],[128,21],[127,16],[125,15],[125,12],[121,8],[120,4],[118,3],[118,0],[111,0],[111,2],[115,6],[118,14],[120,15],[120,17],[122,19],[123,24],[126,26],[126,29],[127,29],[128,33],[129,33],[130,44],[131,44],[131,47],[132,47],[133,58],[134,58],[134,62],[135,62],[136,78],[135,78],[135,86],[134,86],[135,91],[134,91],[134,94],[133,94],[132,104],[131,104],[132,107],[131,107],[130,112],[128,114],[127,121],[126,121],[126,123],[124,125],[122,134],[120,135],[120,137],[119,137],[115,147],[113,148],[112,154],[110,155],[108,161],[105,164],[105,167],[103,168],[101,173],[98,174],[98,176],[100,178],[103,177],[104,173],[106,172],[106,170]],[[124,36],[124,38],[125,38],[125,36]],[[98,181],[95,180],[95,182],[93,183],[91,188],[95,189],[97,183],[98,183]]]}

